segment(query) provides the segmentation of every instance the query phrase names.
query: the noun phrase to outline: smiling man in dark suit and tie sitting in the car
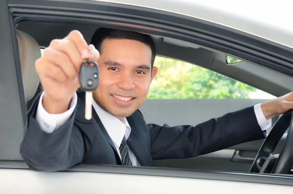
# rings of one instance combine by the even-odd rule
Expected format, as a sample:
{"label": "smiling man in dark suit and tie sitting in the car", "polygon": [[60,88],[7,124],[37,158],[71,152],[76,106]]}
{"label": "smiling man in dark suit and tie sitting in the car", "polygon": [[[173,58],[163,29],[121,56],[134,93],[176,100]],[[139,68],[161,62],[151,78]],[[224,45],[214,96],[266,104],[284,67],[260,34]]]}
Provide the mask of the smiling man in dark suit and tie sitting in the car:
{"label": "smiling man in dark suit and tie sitting in the car", "polygon": [[[93,117],[86,120],[84,92],[76,91],[89,48],[100,81]],[[265,138],[271,118],[293,107],[290,93],[194,127],[147,125],[138,108],[158,71],[154,58],[150,36],[135,32],[100,28],[89,46],[78,31],[52,40],[36,61],[43,92],[28,111],[21,143],[30,169],[61,171],[78,163],[153,166],[155,159],[203,155]]]}

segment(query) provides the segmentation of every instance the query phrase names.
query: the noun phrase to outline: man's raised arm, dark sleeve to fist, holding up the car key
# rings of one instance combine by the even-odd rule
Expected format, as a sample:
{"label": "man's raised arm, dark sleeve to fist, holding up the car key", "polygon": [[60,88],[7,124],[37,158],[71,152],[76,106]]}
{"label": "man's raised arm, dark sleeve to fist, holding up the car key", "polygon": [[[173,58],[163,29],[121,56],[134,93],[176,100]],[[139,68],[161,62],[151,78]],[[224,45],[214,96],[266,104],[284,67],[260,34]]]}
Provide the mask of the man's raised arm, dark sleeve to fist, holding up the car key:
{"label": "man's raised arm, dark sleeve to fist, holding up the car key", "polygon": [[87,45],[79,31],[73,30],[63,39],[52,40],[42,57],[36,60],[35,68],[44,95],[41,101],[38,96],[28,111],[27,126],[21,143],[21,155],[30,169],[66,170],[80,163],[90,149],[96,130],[93,127],[87,129],[93,124],[93,119],[86,121],[80,116],[84,111],[84,103],[80,99],[68,120],[63,120],[60,127],[56,124],[59,127],[56,130],[52,127],[43,131],[42,127],[46,128],[46,125],[37,118],[39,101],[47,112],[43,117],[46,124],[51,123],[53,114],[58,117],[58,114],[68,111],[72,95],[80,88],[78,70],[84,59],[89,57],[97,61],[100,53],[93,45]]}

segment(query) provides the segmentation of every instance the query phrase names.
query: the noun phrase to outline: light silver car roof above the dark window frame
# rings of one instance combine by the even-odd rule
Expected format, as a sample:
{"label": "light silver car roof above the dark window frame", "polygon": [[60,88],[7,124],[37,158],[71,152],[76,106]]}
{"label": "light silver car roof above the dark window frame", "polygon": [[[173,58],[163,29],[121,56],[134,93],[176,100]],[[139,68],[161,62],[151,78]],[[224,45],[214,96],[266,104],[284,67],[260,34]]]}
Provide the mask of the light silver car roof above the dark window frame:
{"label": "light silver car roof above the dark window frame", "polygon": [[[293,48],[289,1],[96,0],[142,6],[213,22]],[[288,5],[288,6],[287,6]]]}

